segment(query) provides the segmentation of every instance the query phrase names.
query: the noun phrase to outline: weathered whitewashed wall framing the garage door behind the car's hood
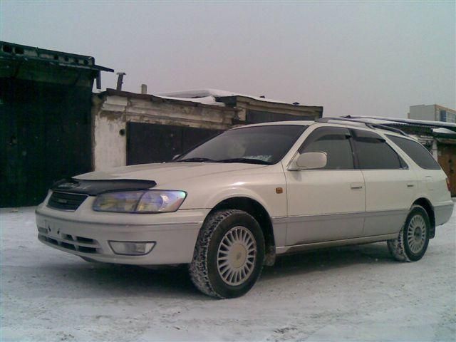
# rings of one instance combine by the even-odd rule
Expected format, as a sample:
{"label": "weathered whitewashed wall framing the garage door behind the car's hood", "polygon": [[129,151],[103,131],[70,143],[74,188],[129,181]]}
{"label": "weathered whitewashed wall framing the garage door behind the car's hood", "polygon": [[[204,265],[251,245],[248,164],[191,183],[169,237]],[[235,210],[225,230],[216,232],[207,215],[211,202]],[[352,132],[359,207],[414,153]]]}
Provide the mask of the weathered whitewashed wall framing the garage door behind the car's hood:
{"label": "weathered whitewashed wall framing the garage door behind the car's hood", "polygon": [[227,130],[238,118],[234,108],[160,102],[150,95],[106,94],[93,95],[92,115],[93,170],[126,165],[128,122]]}

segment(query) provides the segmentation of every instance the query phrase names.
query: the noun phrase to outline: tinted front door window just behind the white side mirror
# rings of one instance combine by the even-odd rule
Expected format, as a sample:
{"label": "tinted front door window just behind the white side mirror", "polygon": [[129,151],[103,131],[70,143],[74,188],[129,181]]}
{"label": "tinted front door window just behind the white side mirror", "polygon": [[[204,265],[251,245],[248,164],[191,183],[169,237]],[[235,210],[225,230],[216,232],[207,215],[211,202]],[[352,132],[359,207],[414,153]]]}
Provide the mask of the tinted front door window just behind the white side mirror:
{"label": "tinted front door window just behind the white side mirror", "polygon": [[352,170],[354,167],[350,133],[346,128],[317,128],[299,152],[326,152],[328,162],[322,170]]}

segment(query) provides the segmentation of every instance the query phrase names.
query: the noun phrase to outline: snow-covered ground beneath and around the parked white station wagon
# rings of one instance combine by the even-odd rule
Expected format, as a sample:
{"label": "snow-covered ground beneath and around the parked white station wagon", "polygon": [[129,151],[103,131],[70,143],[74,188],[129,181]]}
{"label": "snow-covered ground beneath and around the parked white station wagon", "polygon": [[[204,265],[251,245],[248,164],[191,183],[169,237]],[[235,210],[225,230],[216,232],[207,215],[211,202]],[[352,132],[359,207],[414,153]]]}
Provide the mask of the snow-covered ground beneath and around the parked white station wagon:
{"label": "snow-covered ground beneath and around the parked white station wagon", "polygon": [[282,257],[246,296],[214,300],[185,269],[88,264],[1,209],[1,341],[456,341],[456,215],[425,257],[385,243]]}

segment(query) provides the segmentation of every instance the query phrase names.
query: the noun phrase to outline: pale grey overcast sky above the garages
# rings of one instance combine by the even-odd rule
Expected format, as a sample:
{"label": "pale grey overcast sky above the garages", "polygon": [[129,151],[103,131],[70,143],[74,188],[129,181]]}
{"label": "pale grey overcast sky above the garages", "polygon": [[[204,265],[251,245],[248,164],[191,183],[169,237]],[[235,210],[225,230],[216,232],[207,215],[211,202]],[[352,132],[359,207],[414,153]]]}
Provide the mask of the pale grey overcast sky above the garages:
{"label": "pale grey overcast sky above the garages", "polygon": [[[123,90],[216,88],[404,118],[456,108],[447,2],[0,1],[0,39],[95,57]],[[104,88],[116,76],[103,73]]]}

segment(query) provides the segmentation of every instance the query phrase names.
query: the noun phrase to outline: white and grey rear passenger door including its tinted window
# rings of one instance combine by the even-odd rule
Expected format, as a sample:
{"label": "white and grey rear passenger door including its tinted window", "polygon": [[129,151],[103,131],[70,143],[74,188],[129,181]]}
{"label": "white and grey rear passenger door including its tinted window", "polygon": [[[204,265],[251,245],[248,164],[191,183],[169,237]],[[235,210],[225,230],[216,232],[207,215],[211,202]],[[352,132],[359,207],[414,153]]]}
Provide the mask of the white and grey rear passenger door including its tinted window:
{"label": "white and grey rear passenger door including its tinted window", "polygon": [[415,198],[415,172],[377,133],[351,130],[366,183],[366,216],[363,236],[400,231]]}

